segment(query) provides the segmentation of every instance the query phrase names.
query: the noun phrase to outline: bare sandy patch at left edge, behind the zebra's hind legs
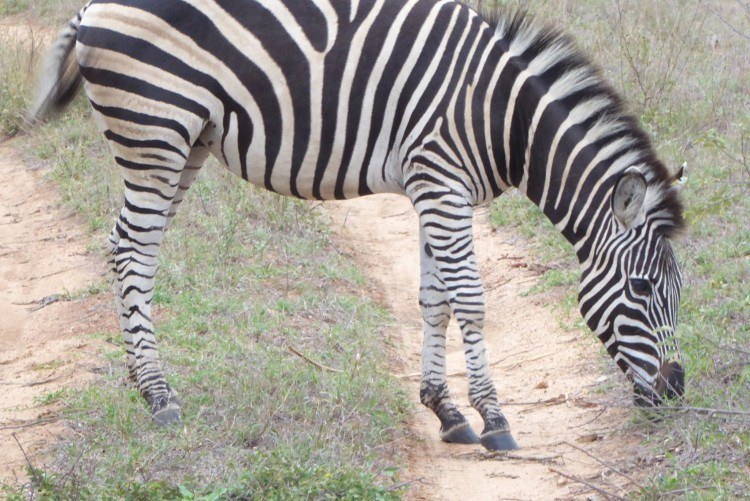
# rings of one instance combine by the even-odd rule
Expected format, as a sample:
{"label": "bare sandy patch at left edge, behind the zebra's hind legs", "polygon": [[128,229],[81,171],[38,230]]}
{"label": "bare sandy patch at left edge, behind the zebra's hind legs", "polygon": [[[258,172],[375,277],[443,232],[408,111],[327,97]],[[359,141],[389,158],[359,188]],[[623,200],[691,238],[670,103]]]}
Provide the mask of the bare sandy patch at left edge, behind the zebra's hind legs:
{"label": "bare sandy patch at left edge, behind the zebra's hind legs", "polygon": [[0,146],[0,179],[0,485],[14,485],[24,452],[43,466],[65,431],[55,392],[94,375],[97,345],[82,333],[115,319],[101,296],[69,300],[101,282],[103,259],[86,251],[80,221],[10,143]]}

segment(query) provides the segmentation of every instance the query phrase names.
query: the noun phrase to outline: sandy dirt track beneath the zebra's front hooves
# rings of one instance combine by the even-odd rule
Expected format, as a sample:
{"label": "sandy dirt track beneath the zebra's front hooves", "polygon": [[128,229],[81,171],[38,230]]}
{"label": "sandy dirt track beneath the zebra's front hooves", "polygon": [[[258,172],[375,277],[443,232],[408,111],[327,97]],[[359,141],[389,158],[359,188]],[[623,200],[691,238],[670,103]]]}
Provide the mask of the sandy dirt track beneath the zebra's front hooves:
{"label": "sandy dirt track beneath the zebra's front hooves", "polygon": [[[402,374],[418,373],[421,353],[417,220],[406,198],[366,197],[326,204],[334,229],[361,263],[376,287],[375,297],[396,317],[393,333],[403,347],[397,357]],[[504,412],[521,450],[509,457],[493,457],[481,446],[445,444],[438,438],[439,421],[419,404],[419,377],[405,378],[416,410],[413,438],[406,444],[407,480],[414,480],[408,499],[588,499],[594,490],[552,469],[626,493],[628,480],[613,473],[569,444],[588,451],[621,471],[635,468],[637,442],[617,432],[626,418],[622,410],[597,404],[592,390],[603,378],[598,341],[560,327],[548,298],[521,297],[536,275],[524,267],[524,252],[509,244],[509,236],[493,232],[475,217],[476,249],[487,290],[485,337],[494,365],[494,380]],[[400,327],[400,328],[399,328]],[[452,322],[448,371],[465,368],[460,333]],[[481,419],[468,405],[466,378],[450,378],[452,395],[472,423]],[[619,391],[625,386],[618,380]],[[522,402],[544,401],[538,405]],[[568,442],[569,444],[566,444]],[[631,484],[630,489],[634,486]],[[599,496],[601,497],[601,496]]]}

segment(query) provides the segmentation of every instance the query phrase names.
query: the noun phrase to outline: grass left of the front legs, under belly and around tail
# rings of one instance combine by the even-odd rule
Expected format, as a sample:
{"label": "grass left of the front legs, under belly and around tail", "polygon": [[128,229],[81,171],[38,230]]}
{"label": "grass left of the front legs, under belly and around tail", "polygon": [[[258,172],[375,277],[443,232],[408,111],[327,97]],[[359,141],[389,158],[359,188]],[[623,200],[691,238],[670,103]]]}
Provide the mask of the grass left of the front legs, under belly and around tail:
{"label": "grass left of the front legs, under belly and around tail", "polygon": [[[4,12],[25,12],[17,5]],[[57,23],[56,12],[41,19]],[[35,47],[0,39],[3,135],[22,126]],[[103,242],[121,183],[85,100],[14,145],[50,166],[64,202],[88,221],[92,242]],[[104,259],[101,246],[92,245],[91,258]],[[46,464],[32,465],[28,484],[0,486],[0,496],[400,496],[408,400],[385,370],[391,347],[380,334],[389,317],[366,298],[364,278],[334,249],[315,205],[207,165],[160,264],[154,304],[166,370],[185,401],[182,426],[151,423],[126,382],[119,332],[102,328],[91,333],[109,347],[97,383],[35,402],[62,404],[75,433]],[[111,293],[94,284],[74,294]]]}

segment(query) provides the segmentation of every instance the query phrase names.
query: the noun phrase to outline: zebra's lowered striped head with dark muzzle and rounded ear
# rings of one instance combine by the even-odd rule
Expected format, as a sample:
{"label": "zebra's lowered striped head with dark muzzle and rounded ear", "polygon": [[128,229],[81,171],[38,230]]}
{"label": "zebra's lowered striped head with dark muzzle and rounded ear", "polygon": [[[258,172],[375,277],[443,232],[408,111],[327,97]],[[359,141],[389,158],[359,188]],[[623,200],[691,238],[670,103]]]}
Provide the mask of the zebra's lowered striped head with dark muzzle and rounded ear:
{"label": "zebra's lowered striped head with dark muzzle and rounded ear", "polygon": [[680,396],[685,384],[675,338],[682,278],[669,240],[682,225],[673,180],[647,180],[637,167],[619,175],[579,291],[583,317],[633,382],[639,406]]}

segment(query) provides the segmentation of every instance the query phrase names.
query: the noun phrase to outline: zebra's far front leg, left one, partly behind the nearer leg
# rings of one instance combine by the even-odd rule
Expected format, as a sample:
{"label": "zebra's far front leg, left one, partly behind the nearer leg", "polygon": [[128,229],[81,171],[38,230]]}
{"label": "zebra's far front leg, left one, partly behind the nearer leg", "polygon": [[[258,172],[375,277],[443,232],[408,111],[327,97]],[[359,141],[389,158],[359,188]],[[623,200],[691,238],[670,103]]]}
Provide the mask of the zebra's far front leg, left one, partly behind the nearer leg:
{"label": "zebra's far front leg, left one, partly behind the nearer leg", "polygon": [[440,419],[440,438],[444,442],[476,444],[479,438],[450,398],[445,365],[445,334],[451,317],[449,296],[421,228],[419,235],[419,306],[424,322],[419,399]]}

